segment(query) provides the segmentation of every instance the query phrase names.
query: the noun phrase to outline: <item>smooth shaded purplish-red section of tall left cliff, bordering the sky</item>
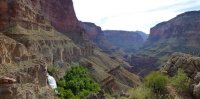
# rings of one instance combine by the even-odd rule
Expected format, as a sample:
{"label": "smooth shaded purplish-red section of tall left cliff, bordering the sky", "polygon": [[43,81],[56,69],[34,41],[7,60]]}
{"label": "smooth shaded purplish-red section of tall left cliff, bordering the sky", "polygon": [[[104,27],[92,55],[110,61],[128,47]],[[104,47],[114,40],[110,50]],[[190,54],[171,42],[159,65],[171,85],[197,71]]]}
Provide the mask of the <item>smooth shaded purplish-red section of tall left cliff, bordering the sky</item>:
{"label": "smooth shaded purplish-red section of tall left cliff, bordering the sky", "polygon": [[35,0],[41,2],[42,15],[59,32],[79,31],[72,0]]}

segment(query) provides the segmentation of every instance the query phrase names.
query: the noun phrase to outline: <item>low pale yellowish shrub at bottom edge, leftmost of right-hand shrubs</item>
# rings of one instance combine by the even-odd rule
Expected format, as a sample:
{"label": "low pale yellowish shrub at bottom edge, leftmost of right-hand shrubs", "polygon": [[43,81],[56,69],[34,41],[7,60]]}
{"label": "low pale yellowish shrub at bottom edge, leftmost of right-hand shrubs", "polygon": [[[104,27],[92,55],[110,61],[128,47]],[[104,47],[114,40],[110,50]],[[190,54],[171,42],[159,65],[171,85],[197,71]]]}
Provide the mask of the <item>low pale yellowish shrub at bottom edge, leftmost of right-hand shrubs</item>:
{"label": "low pale yellowish shrub at bottom edge, leftmost of right-hand shrubs", "polygon": [[151,99],[153,96],[151,89],[145,86],[138,86],[128,93],[130,94],[129,99]]}

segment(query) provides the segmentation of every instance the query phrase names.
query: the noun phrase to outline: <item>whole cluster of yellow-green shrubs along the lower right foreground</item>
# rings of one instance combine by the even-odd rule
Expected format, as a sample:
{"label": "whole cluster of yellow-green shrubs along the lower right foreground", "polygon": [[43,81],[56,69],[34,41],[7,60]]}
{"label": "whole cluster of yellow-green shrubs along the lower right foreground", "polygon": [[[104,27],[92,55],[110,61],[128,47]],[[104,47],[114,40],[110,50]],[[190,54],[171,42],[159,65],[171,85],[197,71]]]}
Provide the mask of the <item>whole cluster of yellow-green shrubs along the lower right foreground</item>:
{"label": "whole cluster of yellow-green shrubs along the lower right foreground", "polygon": [[[151,72],[144,78],[142,85],[129,90],[129,99],[173,99],[167,86],[172,86],[178,93],[189,91],[190,79],[182,69],[173,77],[160,72]],[[179,94],[177,94],[179,95]]]}

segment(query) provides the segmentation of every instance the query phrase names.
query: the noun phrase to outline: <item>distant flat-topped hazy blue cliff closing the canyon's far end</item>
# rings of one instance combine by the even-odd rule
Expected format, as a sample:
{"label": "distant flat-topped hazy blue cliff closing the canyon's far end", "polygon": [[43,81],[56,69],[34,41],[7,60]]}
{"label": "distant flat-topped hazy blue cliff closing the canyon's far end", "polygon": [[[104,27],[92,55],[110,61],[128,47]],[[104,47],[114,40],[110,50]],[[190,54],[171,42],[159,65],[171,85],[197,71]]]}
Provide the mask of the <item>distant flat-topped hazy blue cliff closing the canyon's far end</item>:
{"label": "distant flat-topped hazy blue cliff closing the canyon's far end", "polygon": [[[141,32],[129,31],[103,31],[105,38],[117,48],[121,48],[124,52],[132,52],[138,50],[139,47],[145,42],[145,39],[140,35]],[[144,37],[145,38],[145,37]]]}

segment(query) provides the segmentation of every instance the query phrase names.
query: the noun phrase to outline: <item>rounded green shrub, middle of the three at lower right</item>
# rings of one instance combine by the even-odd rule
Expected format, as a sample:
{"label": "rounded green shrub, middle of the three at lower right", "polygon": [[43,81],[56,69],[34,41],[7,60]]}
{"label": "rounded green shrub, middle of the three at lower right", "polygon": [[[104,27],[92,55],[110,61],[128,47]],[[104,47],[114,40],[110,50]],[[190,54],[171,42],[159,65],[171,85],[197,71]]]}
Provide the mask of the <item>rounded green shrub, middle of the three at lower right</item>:
{"label": "rounded green shrub, middle of the three at lower right", "polygon": [[151,72],[144,78],[144,85],[156,94],[165,94],[168,77],[159,72]]}

